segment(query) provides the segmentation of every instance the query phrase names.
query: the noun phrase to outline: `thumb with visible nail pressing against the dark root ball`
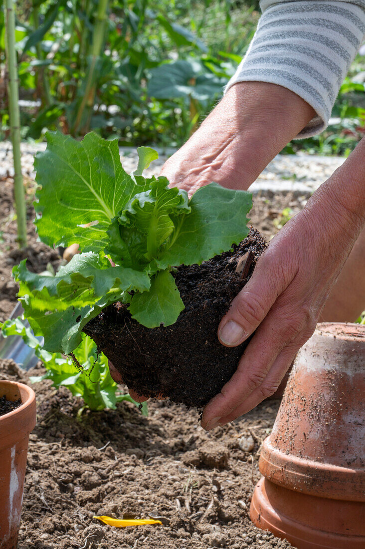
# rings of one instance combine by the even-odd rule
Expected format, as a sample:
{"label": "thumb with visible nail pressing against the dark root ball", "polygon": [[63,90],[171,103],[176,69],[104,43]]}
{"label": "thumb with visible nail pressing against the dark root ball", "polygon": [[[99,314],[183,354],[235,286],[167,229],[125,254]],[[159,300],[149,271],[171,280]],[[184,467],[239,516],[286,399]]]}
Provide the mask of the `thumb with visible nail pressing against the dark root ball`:
{"label": "thumb with visible nail pressing against the dark root ball", "polygon": [[[291,273],[290,268],[285,269]],[[254,273],[243,290],[234,298],[227,314],[218,326],[222,345],[235,347],[245,341],[266,317],[272,305],[295,273],[284,276],[277,261],[273,262],[271,249],[259,259]]]}

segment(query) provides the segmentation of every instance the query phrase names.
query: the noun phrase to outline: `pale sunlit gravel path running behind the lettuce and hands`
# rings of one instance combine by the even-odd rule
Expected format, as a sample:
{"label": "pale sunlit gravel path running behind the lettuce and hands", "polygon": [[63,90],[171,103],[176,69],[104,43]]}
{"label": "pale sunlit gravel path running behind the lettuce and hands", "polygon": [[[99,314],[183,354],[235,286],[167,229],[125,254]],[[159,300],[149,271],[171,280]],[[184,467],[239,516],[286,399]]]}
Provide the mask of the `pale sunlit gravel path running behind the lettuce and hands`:
{"label": "pale sunlit gravel path running behind the lettuce and hands", "polygon": [[[22,165],[24,175],[34,177],[33,156],[38,150],[44,150],[46,143],[22,143]],[[146,170],[148,176],[158,175],[166,158],[173,150],[159,150],[159,159]],[[127,172],[137,166],[137,151],[134,148],[120,149],[122,165]],[[321,183],[344,162],[340,156],[310,156],[302,153],[280,155],[263,170],[259,178],[251,185],[254,194],[276,194],[293,192],[296,196],[309,196]],[[0,142],[0,177],[12,175],[13,152],[8,141]]]}

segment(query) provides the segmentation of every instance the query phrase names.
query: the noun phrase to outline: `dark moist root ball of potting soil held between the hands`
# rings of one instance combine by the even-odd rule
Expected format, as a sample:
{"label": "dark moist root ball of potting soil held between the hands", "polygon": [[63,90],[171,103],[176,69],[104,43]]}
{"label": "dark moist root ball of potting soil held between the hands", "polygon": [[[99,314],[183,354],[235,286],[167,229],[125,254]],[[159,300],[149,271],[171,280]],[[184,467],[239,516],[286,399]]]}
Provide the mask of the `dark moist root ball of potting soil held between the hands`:
{"label": "dark moist root ball of potting soil held between the hands", "polygon": [[[203,407],[232,377],[249,340],[234,348],[221,345],[217,328],[232,299],[248,282],[267,243],[256,229],[232,250],[200,266],[180,266],[175,281],[185,309],[172,326],[146,328],[116,303],[86,324],[99,351],[121,373],[128,388],[146,397],[170,397]],[[251,251],[248,276],[235,272],[239,258]]]}

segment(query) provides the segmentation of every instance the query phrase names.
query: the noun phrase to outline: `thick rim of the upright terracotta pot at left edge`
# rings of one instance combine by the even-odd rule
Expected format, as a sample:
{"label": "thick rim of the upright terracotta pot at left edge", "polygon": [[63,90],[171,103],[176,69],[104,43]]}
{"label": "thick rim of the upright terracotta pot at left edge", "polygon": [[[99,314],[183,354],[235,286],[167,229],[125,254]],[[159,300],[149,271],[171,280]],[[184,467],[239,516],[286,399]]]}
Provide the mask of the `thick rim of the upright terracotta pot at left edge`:
{"label": "thick rim of the upright terracotta pot at left edge", "polygon": [[22,404],[0,416],[0,447],[14,444],[14,441],[29,434],[36,424],[36,394],[24,383],[0,380],[0,395],[6,394],[4,388],[17,389]]}

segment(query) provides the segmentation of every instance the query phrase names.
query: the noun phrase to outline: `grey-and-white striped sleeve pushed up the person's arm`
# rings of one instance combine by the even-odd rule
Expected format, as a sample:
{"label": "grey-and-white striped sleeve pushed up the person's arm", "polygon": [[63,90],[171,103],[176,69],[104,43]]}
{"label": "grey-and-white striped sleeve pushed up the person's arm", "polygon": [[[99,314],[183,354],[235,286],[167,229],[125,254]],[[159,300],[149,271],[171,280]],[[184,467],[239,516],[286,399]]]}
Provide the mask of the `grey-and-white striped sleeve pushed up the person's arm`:
{"label": "grey-and-white striped sleeve pushed up the person's arm", "polygon": [[365,34],[365,0],[262,0],[248,52],[228,82],[271,82],[316,111],[298,138],[321,132]]}

